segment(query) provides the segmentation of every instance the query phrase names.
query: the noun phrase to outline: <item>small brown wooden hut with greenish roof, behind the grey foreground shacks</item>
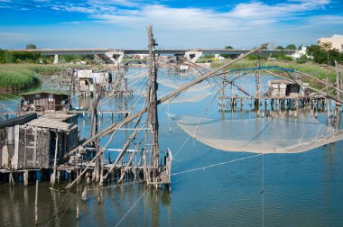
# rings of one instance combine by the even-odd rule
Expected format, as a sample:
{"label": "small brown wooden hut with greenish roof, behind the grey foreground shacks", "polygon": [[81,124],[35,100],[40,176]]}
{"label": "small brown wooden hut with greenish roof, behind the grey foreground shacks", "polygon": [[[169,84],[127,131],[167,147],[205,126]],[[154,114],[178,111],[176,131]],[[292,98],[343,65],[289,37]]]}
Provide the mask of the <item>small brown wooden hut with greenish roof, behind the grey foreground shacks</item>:
{"label": "small brown wooden hut with greenish roof, behind the grey foreground shacks", "polygon": [[42,90],[21,94],[21,110],[23,111],[64,111],[69,108],[68,92],[58,90]]}

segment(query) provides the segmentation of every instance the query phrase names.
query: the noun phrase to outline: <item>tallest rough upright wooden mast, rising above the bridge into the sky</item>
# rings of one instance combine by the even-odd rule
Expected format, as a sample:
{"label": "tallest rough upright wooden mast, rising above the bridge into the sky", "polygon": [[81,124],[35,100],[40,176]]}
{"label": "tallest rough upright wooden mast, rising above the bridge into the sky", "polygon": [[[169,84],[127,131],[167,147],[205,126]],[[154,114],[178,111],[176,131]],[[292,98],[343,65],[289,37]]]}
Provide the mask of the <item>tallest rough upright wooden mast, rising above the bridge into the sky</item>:
{"label": "tallest rough upright wooden mast, rising above the bridge into the sky", "polygon": [[[154,47],[157,46],[156,40],[153,39],[153,26],[147,27],[149,37],[149,85],[148,85],[148,119],[151,132],[151,159],[150,164],[153,170],[153,184],[157,187],[156,177],[158,176],[159,167],[159,143],[158,143],[158,114],[157,114],[157,66],[154,54]],[[150,171],[149,171],[150,172]]]}

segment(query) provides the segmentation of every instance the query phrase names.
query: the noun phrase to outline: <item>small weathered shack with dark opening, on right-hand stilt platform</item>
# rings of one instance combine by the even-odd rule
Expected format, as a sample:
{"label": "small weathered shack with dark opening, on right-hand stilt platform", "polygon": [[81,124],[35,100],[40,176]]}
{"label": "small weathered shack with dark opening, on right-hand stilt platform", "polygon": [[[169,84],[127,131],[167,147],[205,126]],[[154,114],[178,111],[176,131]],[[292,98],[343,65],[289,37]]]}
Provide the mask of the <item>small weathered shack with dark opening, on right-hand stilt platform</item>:
{"label": "small weathered shack with dark opening, on right-hand stilt platform", "polygon": [[303,98],[305,87],[289,80],[269,80],[268,96],[271,98]]}

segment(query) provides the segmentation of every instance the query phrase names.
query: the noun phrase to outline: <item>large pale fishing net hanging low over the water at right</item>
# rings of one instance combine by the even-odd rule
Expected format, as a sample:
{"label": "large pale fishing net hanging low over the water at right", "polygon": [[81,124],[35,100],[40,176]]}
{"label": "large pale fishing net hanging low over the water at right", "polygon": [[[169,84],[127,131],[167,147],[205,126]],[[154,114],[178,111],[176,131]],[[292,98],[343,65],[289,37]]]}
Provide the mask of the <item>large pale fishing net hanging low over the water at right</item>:
{"label": "large pale fishing net hanging low over the water at right", "polygon": [[297,153],[343,139],[343,131],[307,116],[218,120],[169,115],[184,132],[218,150]]}

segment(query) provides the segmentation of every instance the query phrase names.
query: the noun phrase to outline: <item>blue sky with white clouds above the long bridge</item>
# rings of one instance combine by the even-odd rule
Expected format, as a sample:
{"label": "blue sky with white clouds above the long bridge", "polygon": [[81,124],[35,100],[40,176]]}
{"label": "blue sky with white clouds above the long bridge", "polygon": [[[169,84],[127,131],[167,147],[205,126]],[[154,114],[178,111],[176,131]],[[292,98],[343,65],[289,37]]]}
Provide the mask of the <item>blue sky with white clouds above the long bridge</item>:
{"label": "blue sky with white clouds above the long bridge", "polygon": [[0,0],[0,49],[270,48],[343,34],[342,0]]}

